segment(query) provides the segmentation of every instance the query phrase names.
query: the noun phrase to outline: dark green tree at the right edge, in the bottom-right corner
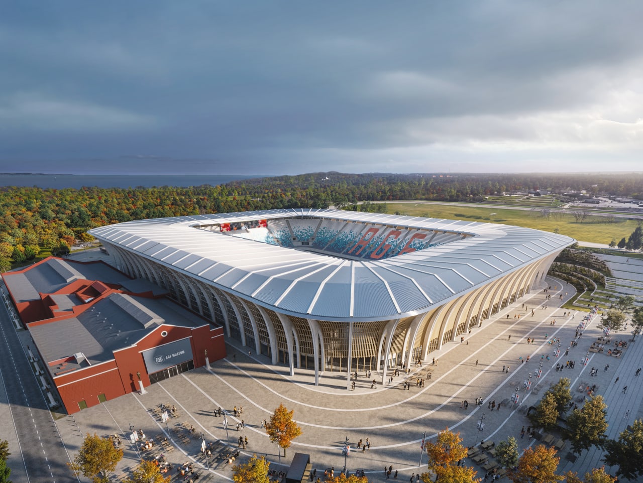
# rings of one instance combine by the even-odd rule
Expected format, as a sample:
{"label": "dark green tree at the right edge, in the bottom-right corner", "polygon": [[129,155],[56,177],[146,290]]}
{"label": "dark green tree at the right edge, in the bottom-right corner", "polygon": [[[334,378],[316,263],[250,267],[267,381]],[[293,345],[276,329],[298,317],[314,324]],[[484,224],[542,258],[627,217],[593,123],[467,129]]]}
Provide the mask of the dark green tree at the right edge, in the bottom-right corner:
{"label": "dark green tree at the right edge, in the bottom-right corner", "polygon": [[636,480],[643,477],[643,421],[637,419],[619,439],[608,439],[603,446],[606,451],[602,461],[608,466],[618,466],[618,477]]}

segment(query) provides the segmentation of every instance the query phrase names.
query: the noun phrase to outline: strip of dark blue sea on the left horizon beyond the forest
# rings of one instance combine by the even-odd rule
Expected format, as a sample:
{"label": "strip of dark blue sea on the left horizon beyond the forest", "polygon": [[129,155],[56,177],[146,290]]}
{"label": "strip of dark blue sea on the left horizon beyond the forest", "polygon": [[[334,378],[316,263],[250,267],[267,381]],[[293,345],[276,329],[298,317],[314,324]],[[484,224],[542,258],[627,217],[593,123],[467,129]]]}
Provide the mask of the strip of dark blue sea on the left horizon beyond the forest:
{"label": "strip of dark blue sea on the left horizon beyond the forest", "polygon": [[60,175],[42,173],[0,173],[0,187],[37,186],[38,188],[136,188],[143,186],[202,186],[225,184],[231,181],[262,178],[262,175]]}

